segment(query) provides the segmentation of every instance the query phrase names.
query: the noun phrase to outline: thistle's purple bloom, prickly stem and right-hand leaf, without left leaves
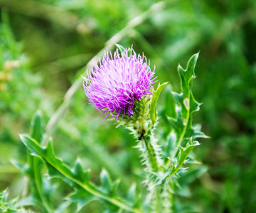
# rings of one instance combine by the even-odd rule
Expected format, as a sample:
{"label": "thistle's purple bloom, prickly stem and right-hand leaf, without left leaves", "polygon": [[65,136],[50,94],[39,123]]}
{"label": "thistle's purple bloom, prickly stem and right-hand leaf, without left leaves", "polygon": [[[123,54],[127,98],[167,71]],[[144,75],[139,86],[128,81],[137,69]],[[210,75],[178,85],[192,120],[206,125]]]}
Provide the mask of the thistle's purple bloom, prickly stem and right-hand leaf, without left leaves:
{"label": "thistle's purple bloom, prickly stem and right-hand leaf, without left leaves", "polygon": [[[199,145],[198,141],[193,140],[206,137],[192,126],[192,114],[200,106],[191,92],[198,54],[188,61],[186,70],[178,66],[182,93],[171,94],[174,98],[171,98],[169,107],[174,113],[166,116],[176,134],[176,146],[166,160],[164,151],[154,138],[154,129],[158,124],[156,101],[167,83],[159,84],[154,90],[152,84],[156,81],[155,73],[151,72],[150,61],[146,63],[144,54],[137,56],[132,48],[127,50],[120,45],[117,47],[119,50],[114,55],[105,53],[102,62],[99,60],[100,66],[94,63],[84,84],[85,94],[95,109],[101,111],[101,114],[107,113],[105,118],[111,115],[118,123],[117,127],[124,125],[132,131],[137,139],[136,148],[142,153],[141,162],[146,172],[144,183],[149,190],[147,199],[153,201],[150,208],[156,212],[169,212],[171,199],[166,200],[166,197],[171,192],[171,178],[183,171],[181,166],[186,162],[188,154]],[[183,148],[181,145],[184,142],[186,146]]]}

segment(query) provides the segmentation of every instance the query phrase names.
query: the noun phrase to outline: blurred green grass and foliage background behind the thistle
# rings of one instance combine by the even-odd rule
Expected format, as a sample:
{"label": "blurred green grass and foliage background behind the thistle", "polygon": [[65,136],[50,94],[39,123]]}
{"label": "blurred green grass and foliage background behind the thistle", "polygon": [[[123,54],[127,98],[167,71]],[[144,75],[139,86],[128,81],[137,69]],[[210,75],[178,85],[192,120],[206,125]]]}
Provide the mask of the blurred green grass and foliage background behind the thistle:
{"label": "blurred green grass and foliage background behind the thistle", "polygon": [[[256,211],[256,2],[158,2],[0,0],[0,191],[9,187],[15,197],[26,185],[10,163],[26,160],[18,133],[29,131],[38,109],[45,127],[87,62],[118,33],[118,43],[144,52],[159,82],[177,92],[178,63],[186,67],[200,51],[193,94],[203,105],[194,122],[210,139],[195,154],[208,170],[191,180],[181,202],[198,212]],[[87,104],[82,84],[69,104],[52,131],[56,155],[69,165],[79,156],[94,182],[102,168],[121,176],[123,188],[140,181],[128,131]],[[163,93],[159,111],[164,104]],[[63,188],[58,193],[65,196],[70,189]],[[93,203],[84,211],[92,209]]]}

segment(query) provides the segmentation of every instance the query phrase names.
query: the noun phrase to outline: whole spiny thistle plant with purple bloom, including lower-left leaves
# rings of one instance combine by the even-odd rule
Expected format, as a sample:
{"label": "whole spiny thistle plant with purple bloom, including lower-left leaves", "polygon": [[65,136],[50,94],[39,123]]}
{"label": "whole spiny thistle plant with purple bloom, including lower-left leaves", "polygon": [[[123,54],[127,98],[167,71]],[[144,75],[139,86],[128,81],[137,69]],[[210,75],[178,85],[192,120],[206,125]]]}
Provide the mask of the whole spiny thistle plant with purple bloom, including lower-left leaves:
{"label": "whole spiny thistle plant with purple bloom, including lower-left leaves", "polygon": [[[127,197],[120,197],[119,180],[112,180],[107,170],[102,169],[101,184],[95,185],[90,180],[90,169],[85,170],[81,160],[78,159],[73,168],[65,165],[55,155],[50,138],[44,146],[41,116],[36,114],[30,135],[20,136],[28,148],[28,162],[25,165],[14,162],[14,165],[31,182],[32,190],[28,190],[31,192],[27,195],[34,199],[31,204],[39,204],[43,212],[70,212],[73,203],[76,209],[72,212],[79,212],[95,200],[105,204],[108,212],[177,212],[176,190],[179,178],[187,169],[183,165],[195,162],[193,155],[189,155],[199,145],[195,139],[206,137],[198,126],[192,125],[192,114],[200,106],[191,92],[198,54],[188,60],[186,70],[178,66],[181,93],[166,91],[167,107],[161,111],[161,118],[168,129],[164,140],[160,140],[155,136],[160,119],[156,104],[168,83],[159,84],[154,90],[156,67],[151,70],[150,61],[143,53],[139,55],[133,48],[117,47],[113,54],[105,51],[102,60],[93,62],[83,87],[89,103],[100,114],[105,114],[104,118],[110,117],[117,127],[129,129],[136,139],[135,148],[141,152],[137,159],[142,163],[146,190],[139,192],[132,185]],[[48,172],[42,175],[45,167]],[[58,207],[50,199],[50,193],[56,189],[52,179],[64,181],[73,189]]]}

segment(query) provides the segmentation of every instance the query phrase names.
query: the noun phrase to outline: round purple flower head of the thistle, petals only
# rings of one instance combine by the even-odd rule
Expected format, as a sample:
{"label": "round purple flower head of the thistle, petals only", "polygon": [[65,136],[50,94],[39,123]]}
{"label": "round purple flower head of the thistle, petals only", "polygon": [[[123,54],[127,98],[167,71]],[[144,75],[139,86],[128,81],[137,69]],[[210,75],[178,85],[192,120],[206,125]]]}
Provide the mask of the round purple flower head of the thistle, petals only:
{"label": "round purple flower head of the thistle, petals only", "polygon": [[114,55],[105,52],[102,60],[95,60],[87,71],[83,87],[89,103],[101,114],[108,112],[105,118],[111,114],[115,121],[120,115],[134,115],[135,101],[142,102],[152,93],[151,84],[156,77],[149,65],[144,53],[137,55],[133,49],[130,53],[126,49],[121,55],[118,49]]}

